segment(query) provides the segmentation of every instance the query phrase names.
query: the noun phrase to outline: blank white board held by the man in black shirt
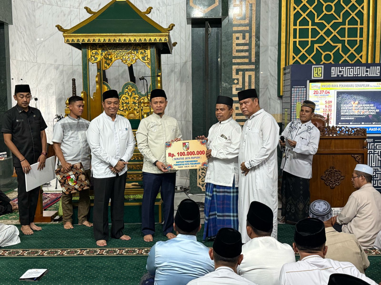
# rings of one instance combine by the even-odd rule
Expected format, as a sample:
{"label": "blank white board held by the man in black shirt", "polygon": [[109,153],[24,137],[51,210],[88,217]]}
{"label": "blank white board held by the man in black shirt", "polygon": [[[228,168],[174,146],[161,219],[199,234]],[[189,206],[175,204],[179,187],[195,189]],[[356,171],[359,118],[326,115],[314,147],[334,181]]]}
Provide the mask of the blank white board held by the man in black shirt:
{"label": "blank white board held by the man in black shirt", "polygon": [[37,170],[39,164],[40,163],[37,162],[35,164],[30,165],[30,168],[32,169],[29,171],[28,174],[24,174],[27,192],[56,178],[56,174],[54,173],[54,156],[46,158],[45,167],[42,170]]}

